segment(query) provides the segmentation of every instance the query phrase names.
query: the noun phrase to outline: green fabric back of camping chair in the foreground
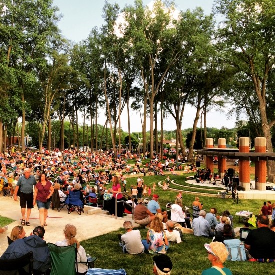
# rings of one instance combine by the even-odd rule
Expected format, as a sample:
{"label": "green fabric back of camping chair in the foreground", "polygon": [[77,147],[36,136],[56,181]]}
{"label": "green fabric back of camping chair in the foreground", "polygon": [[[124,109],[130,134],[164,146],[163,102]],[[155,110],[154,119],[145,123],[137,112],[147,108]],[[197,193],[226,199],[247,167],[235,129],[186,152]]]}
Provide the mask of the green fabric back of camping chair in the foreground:
{"label": "green fabric back of camping chair in the foreground", "polygon": [[[76,243],[63,247],[48,243],[47,246],[51,256],[50,275],[76,275]],[[77,264],[76,268],[78,269]]]}

